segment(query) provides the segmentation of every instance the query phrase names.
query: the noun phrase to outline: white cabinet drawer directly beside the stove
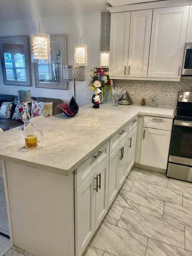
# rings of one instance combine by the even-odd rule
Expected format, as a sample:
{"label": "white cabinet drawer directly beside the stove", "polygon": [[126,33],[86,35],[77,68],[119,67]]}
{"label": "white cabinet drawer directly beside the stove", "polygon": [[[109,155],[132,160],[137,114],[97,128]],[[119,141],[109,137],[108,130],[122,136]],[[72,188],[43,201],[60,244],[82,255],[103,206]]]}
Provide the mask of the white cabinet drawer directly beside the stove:
{"label": "white cabinet drawer directly beside the stove", "polygon": [[144,127],[156,128],[160,130],[172,130],[172,118],[165,118],[159,116],[144,116]]}

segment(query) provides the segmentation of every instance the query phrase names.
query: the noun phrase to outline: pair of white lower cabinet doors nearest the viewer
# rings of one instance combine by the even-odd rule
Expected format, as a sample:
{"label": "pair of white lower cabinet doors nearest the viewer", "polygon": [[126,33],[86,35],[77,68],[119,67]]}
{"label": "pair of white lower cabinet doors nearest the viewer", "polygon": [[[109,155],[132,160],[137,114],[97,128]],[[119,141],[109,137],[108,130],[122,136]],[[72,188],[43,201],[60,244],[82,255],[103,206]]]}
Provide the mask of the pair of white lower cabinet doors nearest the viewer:
{"label": "pair of white lower cabinet doors nearest the viewer", "polygon": [[75,246],[81,256],[108,210],[109,158],[75,190]]}

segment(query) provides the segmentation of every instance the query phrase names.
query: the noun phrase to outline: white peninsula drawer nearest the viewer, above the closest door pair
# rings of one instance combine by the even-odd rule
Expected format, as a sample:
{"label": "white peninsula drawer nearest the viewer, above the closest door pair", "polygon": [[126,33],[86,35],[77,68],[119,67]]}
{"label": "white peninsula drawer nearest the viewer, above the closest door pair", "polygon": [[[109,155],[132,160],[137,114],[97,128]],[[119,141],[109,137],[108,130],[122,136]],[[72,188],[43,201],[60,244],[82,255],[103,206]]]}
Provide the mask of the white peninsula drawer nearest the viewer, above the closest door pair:
{"label": "white peninsula drawer nearest the viewer, above the closest door pair", "polygon": [[74,189],[77,190],[109,157],[109,142],[94,152],[75,172]]}

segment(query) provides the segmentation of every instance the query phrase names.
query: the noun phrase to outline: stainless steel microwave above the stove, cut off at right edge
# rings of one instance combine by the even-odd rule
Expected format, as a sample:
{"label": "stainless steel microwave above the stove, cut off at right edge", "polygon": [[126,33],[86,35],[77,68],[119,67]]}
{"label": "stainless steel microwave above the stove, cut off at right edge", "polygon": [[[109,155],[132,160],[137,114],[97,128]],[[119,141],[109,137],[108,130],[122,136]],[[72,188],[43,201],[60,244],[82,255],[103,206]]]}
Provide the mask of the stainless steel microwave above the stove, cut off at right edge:
{"label": "stainless steel microwave above the stove, cut off at right edge", "polygon": [[192,43],[186,43],[182,75],[192,76]]}

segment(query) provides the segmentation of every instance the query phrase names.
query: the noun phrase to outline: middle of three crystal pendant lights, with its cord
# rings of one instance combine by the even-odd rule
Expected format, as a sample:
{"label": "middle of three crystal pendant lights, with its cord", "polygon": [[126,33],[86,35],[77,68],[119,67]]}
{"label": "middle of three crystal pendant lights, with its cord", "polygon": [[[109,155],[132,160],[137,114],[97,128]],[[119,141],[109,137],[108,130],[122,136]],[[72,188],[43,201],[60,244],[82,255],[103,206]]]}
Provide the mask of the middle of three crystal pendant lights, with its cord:
{"label": "middle of three crystal pendant lights, with its cord", "polygon": [[82,36],[82,11],[80,0],[80,44],[74,44],[74,65],[87,66],[87,45],[81,43]]}

